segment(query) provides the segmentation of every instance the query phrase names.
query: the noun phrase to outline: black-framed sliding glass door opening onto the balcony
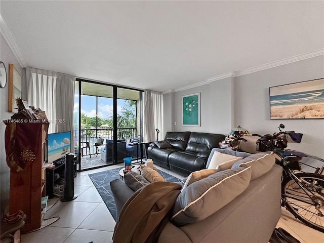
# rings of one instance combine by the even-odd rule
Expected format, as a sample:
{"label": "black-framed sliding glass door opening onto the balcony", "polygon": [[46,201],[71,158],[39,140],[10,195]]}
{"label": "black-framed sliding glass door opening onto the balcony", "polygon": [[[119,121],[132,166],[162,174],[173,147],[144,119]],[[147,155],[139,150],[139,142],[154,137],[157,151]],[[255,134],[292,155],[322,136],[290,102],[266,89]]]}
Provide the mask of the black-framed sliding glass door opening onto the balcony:
{"label": "black-framed sliding glass door opening onto the balcony", "polygon": [[[78,80],[74,122],[79,170],[122,163],[132,138],[141,135],[138,90]],[[78,99],[78,101],[77,101]]]}

